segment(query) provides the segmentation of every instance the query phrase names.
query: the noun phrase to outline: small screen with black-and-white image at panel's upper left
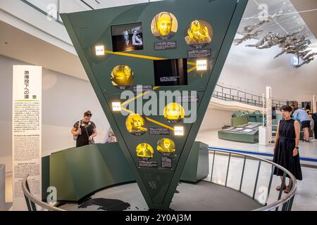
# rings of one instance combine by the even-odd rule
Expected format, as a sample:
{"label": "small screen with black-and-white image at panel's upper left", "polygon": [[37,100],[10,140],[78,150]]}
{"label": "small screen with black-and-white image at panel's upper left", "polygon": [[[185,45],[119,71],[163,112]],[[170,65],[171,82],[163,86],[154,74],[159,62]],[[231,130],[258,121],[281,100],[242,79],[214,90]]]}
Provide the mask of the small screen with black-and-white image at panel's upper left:
{"label": "small screen with black-and-white image at panel's upper left", "polygon": [[111,26],[113,51],[143,50],[142,23]]}

